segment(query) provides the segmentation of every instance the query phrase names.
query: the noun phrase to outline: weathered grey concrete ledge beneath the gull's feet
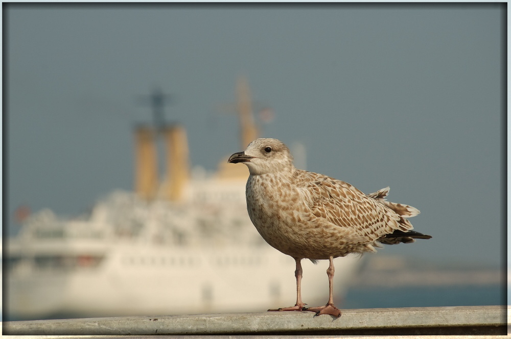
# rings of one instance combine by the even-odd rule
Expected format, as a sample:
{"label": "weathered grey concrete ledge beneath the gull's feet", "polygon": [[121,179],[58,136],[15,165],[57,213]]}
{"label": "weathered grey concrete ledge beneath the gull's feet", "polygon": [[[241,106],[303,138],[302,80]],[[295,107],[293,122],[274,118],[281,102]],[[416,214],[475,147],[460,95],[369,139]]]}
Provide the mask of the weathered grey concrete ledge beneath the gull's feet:
{"label": "weathered grey concrete ledge beneath the gull's feet", "polygon": [[13,321],[8,335],[506,334],[506,306],[346,309],[342,316],[313,312],[261,312],[152,317]]}

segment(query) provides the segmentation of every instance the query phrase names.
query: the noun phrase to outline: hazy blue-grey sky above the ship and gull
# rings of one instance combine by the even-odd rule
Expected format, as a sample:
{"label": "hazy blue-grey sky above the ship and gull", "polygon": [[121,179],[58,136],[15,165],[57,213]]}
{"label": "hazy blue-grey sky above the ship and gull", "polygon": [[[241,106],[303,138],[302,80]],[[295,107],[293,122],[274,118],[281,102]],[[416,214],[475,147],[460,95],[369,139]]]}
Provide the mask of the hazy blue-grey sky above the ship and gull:
{"label": "hazy blue-grey sky above the ship and gull", "polygon": [[[74,216],[133,186],[132,126],[174,96],[191,163],[240,151],[239,75],[303,143],[307,169],[421,214],[433,236],[383,253],[497,265],[504,186],[501,4],[4,7],[7,204]],[[7,12],[7,13],[5,13]],[[7,170],[7,171],[6,171]]]}

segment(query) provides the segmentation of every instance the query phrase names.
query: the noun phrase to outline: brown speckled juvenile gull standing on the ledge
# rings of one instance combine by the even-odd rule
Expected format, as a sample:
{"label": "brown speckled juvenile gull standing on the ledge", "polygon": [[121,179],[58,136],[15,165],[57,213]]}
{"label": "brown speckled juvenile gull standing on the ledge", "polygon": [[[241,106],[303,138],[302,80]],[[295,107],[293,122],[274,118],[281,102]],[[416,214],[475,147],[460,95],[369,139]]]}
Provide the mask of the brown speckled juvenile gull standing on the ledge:
{"label": "brown speckled juvenile gull standing on the ledge", "polygon": [[[333,259],[349,253],[376,252],[382,244],[412,243],[430,236],[412,231],[405,219],[417,208],[386,201],[389,188],[364,194],[347,182],[296,169],[287,146],[256,139],[229,163],[244,163],[250,176],[246,198],[250,220],[263,239],[296,262],[296,304],[269,311],[308,310],[340,317],[333,302]],[[301,259],[329,259],[328,303],[305,307],[301,301]]]}

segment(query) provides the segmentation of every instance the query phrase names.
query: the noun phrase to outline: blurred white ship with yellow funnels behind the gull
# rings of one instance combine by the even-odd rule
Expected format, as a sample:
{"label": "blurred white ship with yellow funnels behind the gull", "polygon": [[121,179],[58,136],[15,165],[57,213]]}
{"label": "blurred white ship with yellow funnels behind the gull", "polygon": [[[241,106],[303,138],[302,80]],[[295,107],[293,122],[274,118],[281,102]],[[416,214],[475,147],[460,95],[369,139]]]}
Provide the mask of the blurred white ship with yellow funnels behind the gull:
{"label": "blurred white ship with yellow funnels behind the gull", "polygon": [[[240,79],[241,149],[257,137],[250,94]],[[155,100],[156,101],[156,100]],[[160,100],[161,101],[161,100]],[[74,219],[46,209],[8,241],[9,318],[143,316],[265,311],[296,298],[294,260],[253,227],[243,164],[216,173],[189,170],[183,127],[135,127],[135,190],[114,191]],[[156,140],[166,144],[158,182]],[[5,258],[4,258],[5,259]],[[336,295],[359,258],[337,260]],[[303,260],[304,300],[327,299],[328,262]]]}

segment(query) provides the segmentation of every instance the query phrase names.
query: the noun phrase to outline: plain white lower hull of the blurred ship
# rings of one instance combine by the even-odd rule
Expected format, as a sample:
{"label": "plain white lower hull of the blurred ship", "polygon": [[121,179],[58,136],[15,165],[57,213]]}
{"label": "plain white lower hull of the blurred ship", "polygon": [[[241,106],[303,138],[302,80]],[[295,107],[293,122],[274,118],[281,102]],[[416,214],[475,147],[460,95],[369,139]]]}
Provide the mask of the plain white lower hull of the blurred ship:
{"label": "plain white lower hull of the blurred ship", "polygon": [[[336,259],[342,295],[359,258]],[[303,260],[303,298],[328,299],[328,260]],[[97,267],[24,270],[9,274],[10,317],[82,317],[265,311],[296,300],[294,260],[260,247],[190,248],[116,244]],[[317,305],[316,305],[317,304]]]}

